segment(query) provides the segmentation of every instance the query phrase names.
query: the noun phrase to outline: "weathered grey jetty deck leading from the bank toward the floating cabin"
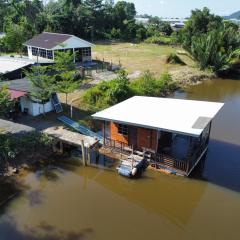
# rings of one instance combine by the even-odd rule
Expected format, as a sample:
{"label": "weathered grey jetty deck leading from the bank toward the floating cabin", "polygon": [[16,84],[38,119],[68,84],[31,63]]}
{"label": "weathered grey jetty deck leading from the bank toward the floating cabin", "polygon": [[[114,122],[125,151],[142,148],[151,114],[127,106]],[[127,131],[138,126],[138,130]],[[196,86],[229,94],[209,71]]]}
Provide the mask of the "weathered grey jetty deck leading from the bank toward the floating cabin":
{"label": "weathered grey jetty deck leading from the bank toward the floating cabin", "polygon": [[82,141],[86,148],[91,148],[96,145],[99,141],[93,137],[85,136],[77,132],[69,131],[63,127],[51,127],[43,131],[48,136],[67,143],[75,147],[81,147]]}

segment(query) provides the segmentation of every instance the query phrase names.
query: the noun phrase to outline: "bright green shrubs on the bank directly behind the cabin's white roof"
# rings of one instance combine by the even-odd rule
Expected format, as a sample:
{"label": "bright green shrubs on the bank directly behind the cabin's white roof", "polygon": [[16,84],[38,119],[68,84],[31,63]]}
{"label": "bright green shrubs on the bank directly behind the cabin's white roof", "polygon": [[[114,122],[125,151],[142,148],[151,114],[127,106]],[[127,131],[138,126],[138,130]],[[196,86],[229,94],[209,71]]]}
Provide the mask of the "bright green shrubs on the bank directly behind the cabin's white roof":
{"label": "bright green shrubs on the bank directly behind the cabin's white roof", "polygon": [[102,82],[87,90],[82,96],[82,104],[86,109],[96,112],[107,108],[134,95],[139,96],[166,96],[175,89],[175,84],[168,73],[156,78],[146,71],[140,78],[130,82],[125,72],[118,78]]}

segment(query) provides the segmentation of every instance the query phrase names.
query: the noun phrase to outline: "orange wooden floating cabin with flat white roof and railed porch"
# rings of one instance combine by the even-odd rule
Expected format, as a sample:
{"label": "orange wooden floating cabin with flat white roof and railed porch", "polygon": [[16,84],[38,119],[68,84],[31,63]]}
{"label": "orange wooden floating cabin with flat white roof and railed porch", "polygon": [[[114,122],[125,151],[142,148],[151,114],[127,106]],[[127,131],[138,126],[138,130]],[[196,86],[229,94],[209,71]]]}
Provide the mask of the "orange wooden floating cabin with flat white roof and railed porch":
{"label": "orange wooden floating cabin with flat white roof and railed porch", "polygon": [[212,120],[223,103],[133,97],[93,115],[103,145],[150,155],[150,165],[189,176],[208,149]]}

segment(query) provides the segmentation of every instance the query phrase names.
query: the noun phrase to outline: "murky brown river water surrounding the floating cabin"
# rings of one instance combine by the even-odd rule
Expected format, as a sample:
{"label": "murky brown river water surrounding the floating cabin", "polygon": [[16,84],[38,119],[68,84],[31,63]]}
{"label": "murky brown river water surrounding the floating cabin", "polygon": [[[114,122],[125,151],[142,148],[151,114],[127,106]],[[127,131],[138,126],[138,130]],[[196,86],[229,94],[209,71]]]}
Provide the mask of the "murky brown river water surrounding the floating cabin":
{"label": "murky brown river water surrounding the floating cabin", "polygon": [[0,211],[0,240],[240,239],[240,81],[174,97],[226,103],[192,178],[147,170],[130,180],[81,166],[26,173],[24,192]]}

